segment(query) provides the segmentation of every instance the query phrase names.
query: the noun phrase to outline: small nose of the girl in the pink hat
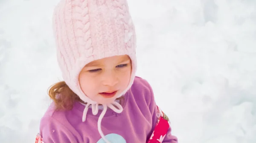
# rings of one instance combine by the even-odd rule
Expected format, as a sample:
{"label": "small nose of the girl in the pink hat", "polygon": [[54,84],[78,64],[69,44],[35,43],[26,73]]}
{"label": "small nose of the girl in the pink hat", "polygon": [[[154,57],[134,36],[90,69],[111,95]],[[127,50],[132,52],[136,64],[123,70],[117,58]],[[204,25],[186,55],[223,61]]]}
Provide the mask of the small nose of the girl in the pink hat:
{"label": "small nose of the girl in the pink hat", "polygon": [[113,71],[106,72],[102,75],[102,83],[103,85],[107,85],[110,87],[113,87],[118,83],[118,77],[116,76],[116,73]]}

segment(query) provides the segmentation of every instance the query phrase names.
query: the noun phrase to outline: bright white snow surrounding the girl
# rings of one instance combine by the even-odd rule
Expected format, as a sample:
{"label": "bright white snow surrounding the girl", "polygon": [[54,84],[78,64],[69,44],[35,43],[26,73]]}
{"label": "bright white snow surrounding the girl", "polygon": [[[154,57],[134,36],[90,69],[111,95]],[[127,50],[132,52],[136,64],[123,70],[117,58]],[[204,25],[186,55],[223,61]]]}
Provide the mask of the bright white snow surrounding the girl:
{"label": "bright white snow surrounding the girl", "polygon": [[[61,80],[58,0],[0,0],[0,143],[33,143]],[[256,143],[256,0],[128,0],[137,75],[179,143]]]}

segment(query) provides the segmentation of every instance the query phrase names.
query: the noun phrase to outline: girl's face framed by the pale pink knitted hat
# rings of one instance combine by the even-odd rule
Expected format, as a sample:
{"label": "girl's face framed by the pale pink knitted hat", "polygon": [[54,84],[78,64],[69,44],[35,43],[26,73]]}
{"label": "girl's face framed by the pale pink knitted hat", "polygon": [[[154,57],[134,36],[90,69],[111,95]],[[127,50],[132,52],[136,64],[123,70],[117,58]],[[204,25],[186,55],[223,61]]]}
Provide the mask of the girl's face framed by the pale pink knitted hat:
{"label": "girl's face framed by the pale pink knitted hat", "polygon": [[79,83],[91,100],[108,104],[126,89],[130,77],[130,57],[111,56],[86,64],[79,74]]}

